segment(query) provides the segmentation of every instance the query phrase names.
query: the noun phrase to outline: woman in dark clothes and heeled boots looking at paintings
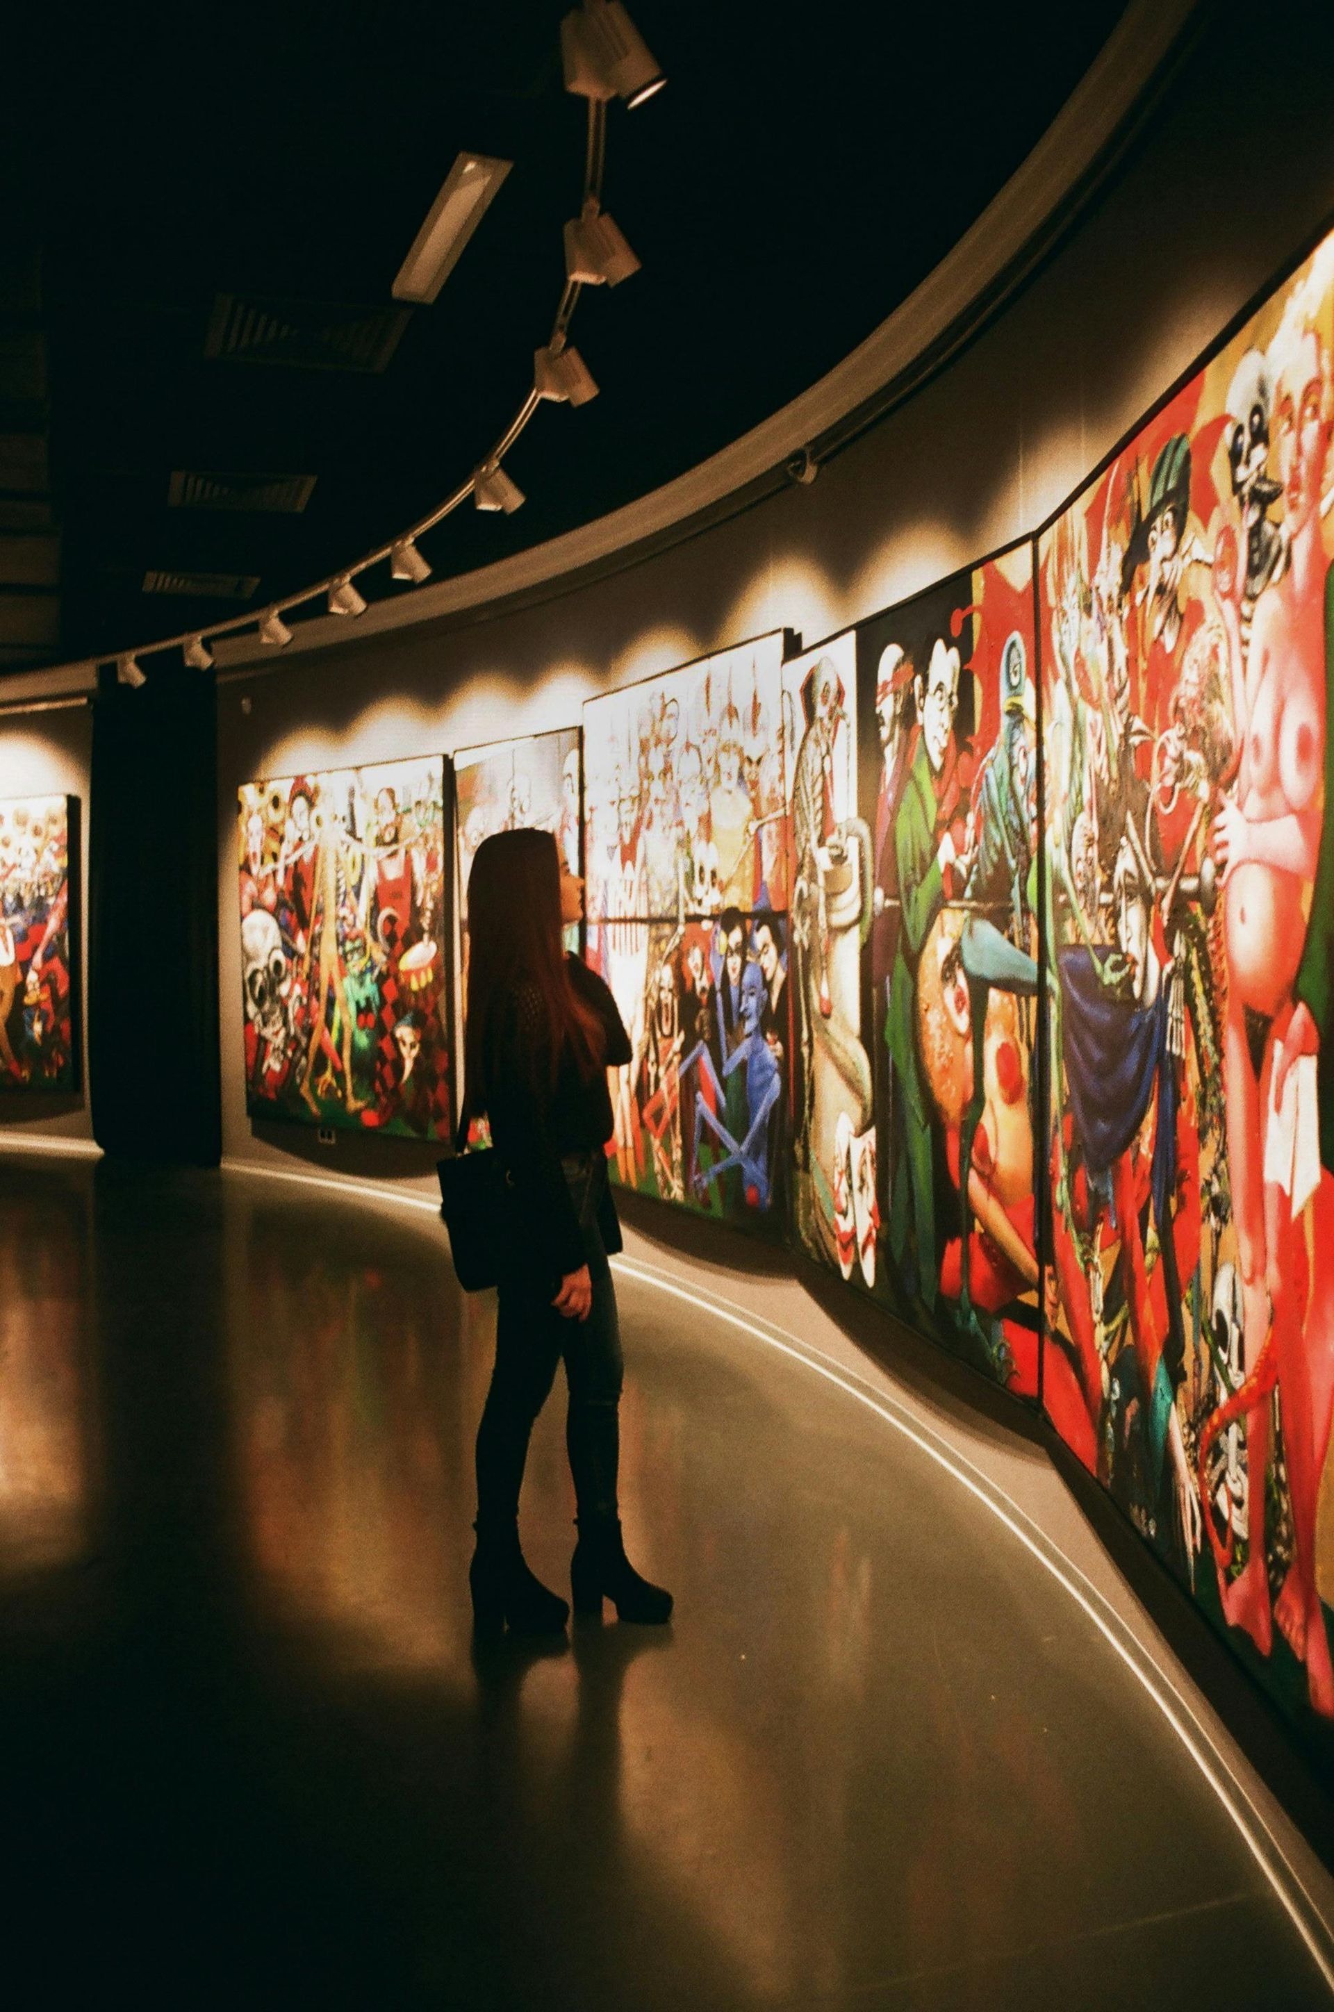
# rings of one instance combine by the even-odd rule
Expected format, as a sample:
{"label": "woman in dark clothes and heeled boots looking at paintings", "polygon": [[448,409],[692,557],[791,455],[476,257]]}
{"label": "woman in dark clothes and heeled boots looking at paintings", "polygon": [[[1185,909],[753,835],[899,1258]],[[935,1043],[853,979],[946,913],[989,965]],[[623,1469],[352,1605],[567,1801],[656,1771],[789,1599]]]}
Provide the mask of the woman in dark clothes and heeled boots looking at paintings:
{"label": "woman in dark clothes and heeled boots looking at paintings", "polygon": [[626,1559],[616,1471],[620,1328],[608,1251],[622,1247],[608,1185],[608,1066],[630,1038],[608,988],[563,956],[583,881],[547,831],[497,831],[469,875],[465,1115],[491,1121],[509,1175],[515,1272],[501,1284],[495,1370],[477,1433],[477,1553],[469,1571],[481,1632],[565,1626],[569,1608],[527,1569],[519,1485],[533,1420],[565,1364],[565,1445],[579,1541],[575,1612],[604,1598],[628,1622],[666,1622],[672,1596]]}

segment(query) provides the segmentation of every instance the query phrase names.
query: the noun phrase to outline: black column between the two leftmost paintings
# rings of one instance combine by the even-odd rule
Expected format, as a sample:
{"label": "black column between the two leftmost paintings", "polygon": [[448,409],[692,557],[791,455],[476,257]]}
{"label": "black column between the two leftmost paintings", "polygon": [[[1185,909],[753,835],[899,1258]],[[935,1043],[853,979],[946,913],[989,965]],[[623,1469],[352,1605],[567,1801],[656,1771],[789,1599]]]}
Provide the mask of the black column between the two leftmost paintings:
{"label": "black column between the two leftmost paintings", "polygon": [[217,714],[211,674],[99,680],[89,825],[89,1093],[105,1153],[211,1167]]}

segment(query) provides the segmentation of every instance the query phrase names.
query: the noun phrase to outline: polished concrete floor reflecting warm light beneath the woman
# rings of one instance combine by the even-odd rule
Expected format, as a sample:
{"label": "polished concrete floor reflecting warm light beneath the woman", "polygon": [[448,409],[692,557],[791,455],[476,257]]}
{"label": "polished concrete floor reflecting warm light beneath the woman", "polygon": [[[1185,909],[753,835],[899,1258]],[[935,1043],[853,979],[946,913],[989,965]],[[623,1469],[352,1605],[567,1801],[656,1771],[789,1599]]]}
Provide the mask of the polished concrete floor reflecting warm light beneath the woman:
{"label": "polished concrete floor reflecting warm light beneath the woman", "polygon": [[[1320,1978],[1089,1618],[801,1362],[622,1284],[678,1598],[469,1640],[485,1302],[439,1227],[0,1157],[14,2006],[1272,2008]],[[557,1583],[559,1404],[529,1557]]]}

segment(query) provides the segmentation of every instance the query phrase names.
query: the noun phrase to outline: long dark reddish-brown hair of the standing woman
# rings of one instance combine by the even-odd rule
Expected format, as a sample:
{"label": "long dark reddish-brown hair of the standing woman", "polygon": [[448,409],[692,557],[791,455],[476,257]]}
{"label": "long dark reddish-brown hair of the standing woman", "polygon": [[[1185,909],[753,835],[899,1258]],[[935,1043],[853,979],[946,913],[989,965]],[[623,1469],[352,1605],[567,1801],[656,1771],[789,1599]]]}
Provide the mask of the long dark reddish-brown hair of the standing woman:
{"label": "long dark reddish-brown hair of the standing woman", "polygon": [[549,831],[497,831],[469,873],[467,1109],[487,1109],[487,1054],[497,1008],[533,986],[543,1016],[525,1062],[533,1088],[555,1086],[569,1044],[581,1076],[602,1066],[602,1022],[573,986],[561,950],[561,863]]}

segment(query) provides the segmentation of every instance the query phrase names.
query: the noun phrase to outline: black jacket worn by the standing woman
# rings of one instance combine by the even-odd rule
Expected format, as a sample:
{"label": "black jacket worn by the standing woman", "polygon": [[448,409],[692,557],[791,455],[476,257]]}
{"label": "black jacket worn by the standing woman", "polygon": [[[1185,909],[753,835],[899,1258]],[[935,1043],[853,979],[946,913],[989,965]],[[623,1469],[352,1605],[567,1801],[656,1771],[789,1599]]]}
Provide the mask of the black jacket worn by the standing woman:
{"label": "black jacket worn by the standing woman", "polygon": [[[602,1022],[604,1062],[610,1068],[622,1066],[630,1060],[630,1036],[616,1000],[579,958],[567,956],[565,968],[571,986]],[[513,1181],[517,1235],[531,1239],[543,1268],[565,1278],[588,1264],[590,1251],[561,1161],[571,1155],[594,1155],[596,1161],[604,1157],[612,1137],[612,1099],[606,1068],[583,1078],[569,1042],[557,1060],[555,1088],[547,1088],[547,1002],[533,982],[517,986],[499,1002],[485,1044],[485,1097],[491,1143]],[[604,1249],[622,1247],[616,1203],[602,1169],[598,1229]]]}

